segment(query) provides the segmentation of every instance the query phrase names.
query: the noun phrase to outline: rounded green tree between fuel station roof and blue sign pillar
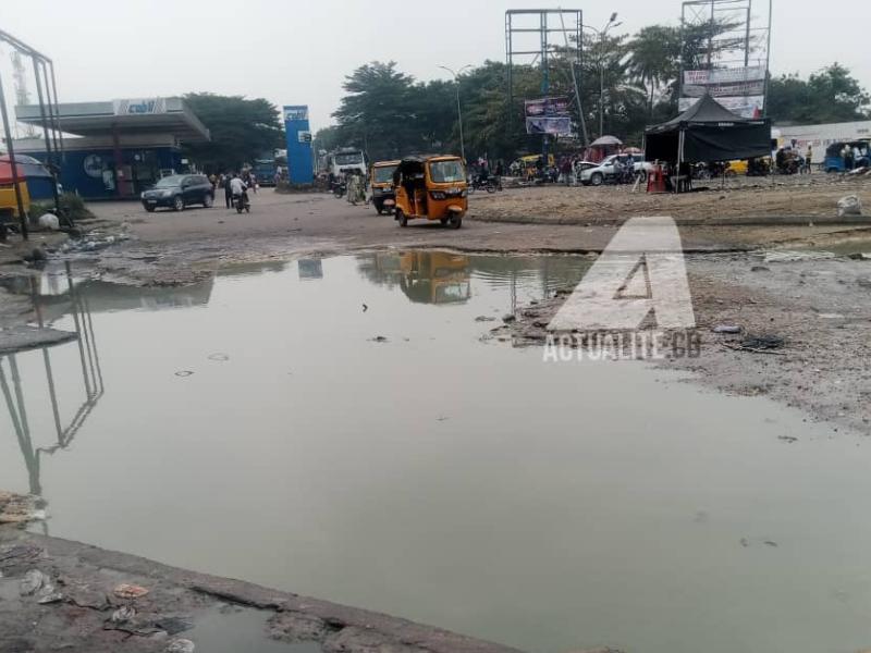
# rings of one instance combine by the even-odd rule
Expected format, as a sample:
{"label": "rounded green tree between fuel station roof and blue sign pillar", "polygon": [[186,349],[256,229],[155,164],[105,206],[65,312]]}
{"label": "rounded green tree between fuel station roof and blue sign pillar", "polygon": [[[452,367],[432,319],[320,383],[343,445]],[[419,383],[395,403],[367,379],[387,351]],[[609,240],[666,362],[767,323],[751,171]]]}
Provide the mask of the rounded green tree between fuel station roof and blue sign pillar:
{"label": "rounded green tree between fuel station roof and blue sign pillar", "polygon": [[206,172],[238,170],[284,144],[281,114],[268,100],[210,93],[187,94],[184,100],[211,133],[210,141],[183,148]]}

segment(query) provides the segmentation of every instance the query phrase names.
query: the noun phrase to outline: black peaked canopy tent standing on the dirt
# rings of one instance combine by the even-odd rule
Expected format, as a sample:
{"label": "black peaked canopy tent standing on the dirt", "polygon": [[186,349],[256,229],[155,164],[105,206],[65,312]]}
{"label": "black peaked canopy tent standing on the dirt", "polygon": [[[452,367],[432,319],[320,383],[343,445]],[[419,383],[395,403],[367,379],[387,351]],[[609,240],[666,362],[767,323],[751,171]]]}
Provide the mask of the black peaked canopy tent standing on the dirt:
{"label": "black peaked canopy tent standing on the dirt", "polygon": [[771,121],[741,118],[706,95],[677,118],[648,127],[645,155],[678,165],[770,156]]}

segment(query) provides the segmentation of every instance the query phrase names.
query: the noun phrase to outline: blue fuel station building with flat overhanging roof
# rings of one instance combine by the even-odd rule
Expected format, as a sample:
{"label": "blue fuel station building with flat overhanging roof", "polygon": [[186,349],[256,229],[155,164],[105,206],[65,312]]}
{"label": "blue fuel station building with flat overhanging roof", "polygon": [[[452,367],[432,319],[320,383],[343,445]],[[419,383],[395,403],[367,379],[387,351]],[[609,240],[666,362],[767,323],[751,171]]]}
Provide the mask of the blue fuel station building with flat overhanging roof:
{"label": "blue fuel station building with flat overhanging roof", "polygon": [[[183,143],[210,140],[181,98],[59,104],[64,156],[59,182],[86,199],[135,198],[161,176],[187,170]],[[39,107],[15,107],[19,122],[41,126]],[[15,151],[46,160],[45,141],[15,141]]]}

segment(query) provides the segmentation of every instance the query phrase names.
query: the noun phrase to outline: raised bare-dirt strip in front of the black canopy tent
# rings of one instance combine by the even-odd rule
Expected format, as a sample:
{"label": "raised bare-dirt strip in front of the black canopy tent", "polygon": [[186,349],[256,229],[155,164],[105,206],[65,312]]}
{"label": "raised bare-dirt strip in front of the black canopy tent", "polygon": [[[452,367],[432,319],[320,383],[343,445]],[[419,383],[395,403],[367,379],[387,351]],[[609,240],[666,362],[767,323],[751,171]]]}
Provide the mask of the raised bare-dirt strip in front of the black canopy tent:
{"label": "raised bare-dirt strip in front of the black canopy tent", "polygon": [[633,215],[670,215],[680,221],[775,217],[833,217],[837,200],[858,195],[871,212],[871,176],[814,174],[736,177],[697,183],[709,190],[682,195],[633,193],[631,186],[528,188],[476,195],[479,220],[597,224]]}

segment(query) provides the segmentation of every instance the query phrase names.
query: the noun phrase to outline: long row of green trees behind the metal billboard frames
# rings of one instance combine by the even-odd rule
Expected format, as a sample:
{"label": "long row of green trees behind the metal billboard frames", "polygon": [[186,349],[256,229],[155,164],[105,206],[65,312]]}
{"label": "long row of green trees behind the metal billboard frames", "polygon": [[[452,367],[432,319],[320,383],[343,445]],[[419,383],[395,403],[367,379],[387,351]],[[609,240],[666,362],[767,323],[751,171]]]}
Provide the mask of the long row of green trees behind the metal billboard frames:
{"label": "long row of green trees behind the metal billboard frames", "polygon": [[[576,67],[580,103],[591,139],[604,133],[640,145],[645,127],[677,114],[682,56],[686,69],[704,67],[709,48],[728,48],[717,39],[732,28],[714,23],[690,28],[651,25],[637,34],[606,36],[584,44]],[[549,95],[573,98],[574,56],[563,50],[549,59]],[[600,75],[604,94],[600,97]],[[523,99],[541,96],[540,66],[513,69],[514,102],[507,101],[506,64],[484,61],[458,77],[466,155],[508,160],[540,149],[540,136],[528,136]],[[315,136],[318,149],[361,147],[372,159],[409,152],[459,151],[454,81],[420,82],[391,62],[370,62],[348,74],[345,95],[333,113],[335,125]],[[868,93],[846,67],[833,63],[808,78],[772,77],[768,114],[775,122],[825,123],[871,116]],[[578,130],[580,133],[580,130]]]}

